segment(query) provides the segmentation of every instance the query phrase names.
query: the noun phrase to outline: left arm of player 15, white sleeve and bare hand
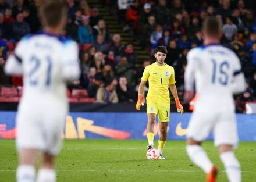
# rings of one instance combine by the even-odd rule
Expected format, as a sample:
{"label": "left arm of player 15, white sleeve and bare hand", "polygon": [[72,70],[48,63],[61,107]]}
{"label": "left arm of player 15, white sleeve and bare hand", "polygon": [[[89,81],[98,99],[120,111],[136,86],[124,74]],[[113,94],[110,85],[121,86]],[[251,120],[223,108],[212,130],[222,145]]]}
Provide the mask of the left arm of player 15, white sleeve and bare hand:
{"label": "left arm of player 15, white sleeve and bare hand", "polygon": [[187,55],[187,66],[184,73],[185,93],[184,100],[190,101],[194,97],[195,70],[198,65],[198,58],[194,51],[190,51]]}

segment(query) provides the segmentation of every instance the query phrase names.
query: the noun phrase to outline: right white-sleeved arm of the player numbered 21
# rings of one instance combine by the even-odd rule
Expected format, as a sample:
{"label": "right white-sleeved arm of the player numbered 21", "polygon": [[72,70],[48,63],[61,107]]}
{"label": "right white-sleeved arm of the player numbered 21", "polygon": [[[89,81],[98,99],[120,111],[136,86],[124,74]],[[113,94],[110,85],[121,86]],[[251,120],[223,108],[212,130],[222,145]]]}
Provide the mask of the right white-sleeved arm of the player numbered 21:
{"label": "right white-sleeved arm of the player numbered 21", "polygon": [[62,77],[63,80],[75,81],[80,77],[80,65],[79,65],[79,51],[75,42],[70,42],[66,45],[63,53],[63,68]]}

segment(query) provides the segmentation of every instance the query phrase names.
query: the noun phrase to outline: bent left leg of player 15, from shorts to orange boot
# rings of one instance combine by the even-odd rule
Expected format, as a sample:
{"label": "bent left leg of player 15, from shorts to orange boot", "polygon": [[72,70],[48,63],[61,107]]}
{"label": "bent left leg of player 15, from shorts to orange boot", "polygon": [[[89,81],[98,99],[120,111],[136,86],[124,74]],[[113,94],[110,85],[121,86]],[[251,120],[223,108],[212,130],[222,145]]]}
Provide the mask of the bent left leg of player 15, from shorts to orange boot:
{"label": "bent left leg of player 15, from shorts to orange boot", "polygon": [[214,120],[214,114],[205,115],[203,112],[194,112],[191,116],[188,127],[189,132],[187,133],[187,154],[195,165],[208,174],[208,177],[212,176],[212,180],[208,181],[215,181],[217,169],[208,158],[204,148],[201,147],[201,141],[208,137]]}

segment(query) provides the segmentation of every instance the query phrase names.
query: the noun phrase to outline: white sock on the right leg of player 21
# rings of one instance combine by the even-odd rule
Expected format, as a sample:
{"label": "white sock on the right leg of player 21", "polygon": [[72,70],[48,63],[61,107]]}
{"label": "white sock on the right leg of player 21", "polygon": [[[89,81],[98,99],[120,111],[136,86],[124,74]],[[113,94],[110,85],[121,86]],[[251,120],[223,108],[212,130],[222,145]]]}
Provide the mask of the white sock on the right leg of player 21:
{"label": "white sock on the right leg of player 21", "polygon": [[37,182],[55,182],[56,172],[54,169],[41,168],[37,174]]}

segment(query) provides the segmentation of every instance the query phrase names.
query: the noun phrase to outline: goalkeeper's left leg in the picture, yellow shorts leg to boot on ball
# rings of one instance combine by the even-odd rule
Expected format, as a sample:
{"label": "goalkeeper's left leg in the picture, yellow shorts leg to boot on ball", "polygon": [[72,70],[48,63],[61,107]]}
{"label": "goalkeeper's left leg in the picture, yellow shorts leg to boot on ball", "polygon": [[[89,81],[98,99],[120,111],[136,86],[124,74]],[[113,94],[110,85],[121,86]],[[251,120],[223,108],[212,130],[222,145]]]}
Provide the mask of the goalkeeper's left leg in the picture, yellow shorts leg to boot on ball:
{"label": "goalkeeper's left leg in the picture, yellow shorts leg to boot on ball", "polygon": [[148,138],[148,147],[147,149],[154,148],[154,126],[155,126],[155,118],[157,115],[157,107],[152,102],[147,102],[147,138]]}

